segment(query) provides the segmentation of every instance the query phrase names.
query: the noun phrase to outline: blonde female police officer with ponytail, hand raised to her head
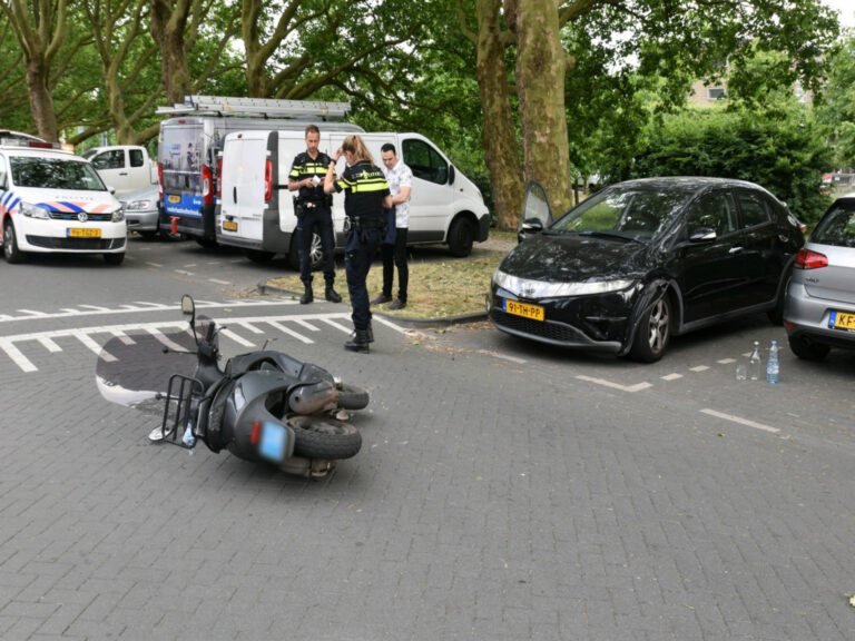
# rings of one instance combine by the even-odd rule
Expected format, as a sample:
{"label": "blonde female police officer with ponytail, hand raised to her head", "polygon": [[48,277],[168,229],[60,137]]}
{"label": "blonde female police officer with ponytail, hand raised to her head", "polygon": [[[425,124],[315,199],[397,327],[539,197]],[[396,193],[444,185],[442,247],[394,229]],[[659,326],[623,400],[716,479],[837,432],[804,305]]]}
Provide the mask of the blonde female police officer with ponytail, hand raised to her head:
{"label": "blonde female police officer with ponytail, hand raised to her head", "polygon": [[[335,164],[342,156],[347,161],[347,167],[342,171],[341,178],[335,180]],[[353,352],[368,352],[374,333],[371,327],[365,278],[385,230],[386,217],[383,208],[392,207],[392,196],[383,171],[374,165],[374,159],[360,136],[347,136],[330,161],[324,178],[324,193],[333,191],[345,193],[344,213],[350,223],[344,246],[344,270],[355,332],[344,347]]]}

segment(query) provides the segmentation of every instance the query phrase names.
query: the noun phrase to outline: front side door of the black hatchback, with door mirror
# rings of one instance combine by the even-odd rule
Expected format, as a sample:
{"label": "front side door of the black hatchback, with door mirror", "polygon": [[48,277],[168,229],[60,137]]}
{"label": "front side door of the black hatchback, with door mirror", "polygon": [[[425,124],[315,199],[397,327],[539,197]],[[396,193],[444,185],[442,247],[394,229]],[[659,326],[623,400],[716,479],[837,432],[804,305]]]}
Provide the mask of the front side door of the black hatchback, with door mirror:
{"label": "front side door of the black hatchback, with door mirror", "polygon": [[729,189],[706,194],[690,206],[679,247],[685,323],[741,307],[744,255]]}

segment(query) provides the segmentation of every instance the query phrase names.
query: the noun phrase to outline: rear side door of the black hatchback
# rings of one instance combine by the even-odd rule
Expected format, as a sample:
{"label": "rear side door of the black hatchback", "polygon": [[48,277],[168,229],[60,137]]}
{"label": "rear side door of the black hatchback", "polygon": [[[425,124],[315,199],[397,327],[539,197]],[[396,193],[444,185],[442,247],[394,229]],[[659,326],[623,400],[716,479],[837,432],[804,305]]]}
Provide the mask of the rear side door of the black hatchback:
{"label": "rear side door of the black hatchback", "polygon": [[743,236],[746,298],[744,307],[773,300],[783,269],[783,253],[773,204],[766,194],[738,187],[739,227]]}

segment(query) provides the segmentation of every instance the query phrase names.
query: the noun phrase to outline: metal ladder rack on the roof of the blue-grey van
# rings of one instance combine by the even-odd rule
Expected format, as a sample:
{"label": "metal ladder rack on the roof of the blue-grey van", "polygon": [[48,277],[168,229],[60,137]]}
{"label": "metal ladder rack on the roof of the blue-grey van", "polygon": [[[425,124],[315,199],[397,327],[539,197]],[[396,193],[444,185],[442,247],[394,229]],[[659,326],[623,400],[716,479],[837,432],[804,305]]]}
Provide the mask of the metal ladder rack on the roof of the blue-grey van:
{"label": "metal ladder rack on the roof of the blue-grey van", "polygon": [[218,116],[261,116],[263,118],[321,118],[337,120],[347,116],[350,102],[320,100],[276,100],[272,98],[228,98],[185,96],[184,102],[158,107],[157,114],[216,114]]}

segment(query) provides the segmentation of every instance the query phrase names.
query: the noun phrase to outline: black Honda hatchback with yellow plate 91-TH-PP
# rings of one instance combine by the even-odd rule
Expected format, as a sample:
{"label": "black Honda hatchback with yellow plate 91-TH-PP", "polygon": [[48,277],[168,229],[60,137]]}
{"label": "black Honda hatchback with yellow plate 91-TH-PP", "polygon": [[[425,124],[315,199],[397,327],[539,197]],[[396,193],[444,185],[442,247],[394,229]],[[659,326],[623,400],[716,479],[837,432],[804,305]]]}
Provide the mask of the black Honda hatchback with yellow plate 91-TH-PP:
{"label": "black Honda hatchback with yellow plate 91-TH-PP", "polygon": [[651,363],[670,337],[767,312],[779,323],[798,220],[763,187],[723,178],[647,178],[603,190],[552,221],[525,196],[520,244],[493,274],[502,332]]}

